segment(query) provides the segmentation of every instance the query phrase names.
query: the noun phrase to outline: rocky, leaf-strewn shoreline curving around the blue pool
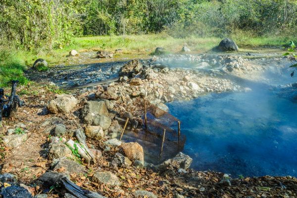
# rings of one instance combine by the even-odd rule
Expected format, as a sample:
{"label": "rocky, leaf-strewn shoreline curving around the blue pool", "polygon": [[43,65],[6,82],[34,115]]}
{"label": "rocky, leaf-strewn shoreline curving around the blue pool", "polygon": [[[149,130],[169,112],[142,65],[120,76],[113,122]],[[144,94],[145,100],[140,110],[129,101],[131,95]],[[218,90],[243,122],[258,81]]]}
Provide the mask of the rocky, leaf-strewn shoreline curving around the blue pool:
{"label": "rocky, leaf-strewn shoreline curving around the blue pool", "polygon": [[[257,80],[257,73],[265,70],[236,56],[186,57],[198,61],[198,68],[168,68],[159,63],[166,58],[158,57],[133,60],[120,68],[119,82],[95,90],[54,96],[40,89],[43,104],[40,98],[24,96],[28,103],[19,120],[3,121],[2,134],[6,134],[1,145],[7,158],[1,169],[0,194],[9,198],[7,192],[15,192],[17,187],[30,192],[28,198],[77,197],[43,182],[45,174],[54,171],[78,188],[106,198],[296,197],[297,179],[290,176],[232,179],[224,173],[198,172],[190,168],[192,159],[183,153],[153,165],[145,162],[146,153],[139,143],[118,140],[121,120],[129,118],[132,131],[142,128],[142,98],[168,111],[164,103],[174,100],[191,100],[211,92],[249,91],[240,83],[242,79],[253,75]],[[40,157],[25,160],[30,166],[24,168],[23,162],[12,160],[16,159],[13,155],[30,145]]]}

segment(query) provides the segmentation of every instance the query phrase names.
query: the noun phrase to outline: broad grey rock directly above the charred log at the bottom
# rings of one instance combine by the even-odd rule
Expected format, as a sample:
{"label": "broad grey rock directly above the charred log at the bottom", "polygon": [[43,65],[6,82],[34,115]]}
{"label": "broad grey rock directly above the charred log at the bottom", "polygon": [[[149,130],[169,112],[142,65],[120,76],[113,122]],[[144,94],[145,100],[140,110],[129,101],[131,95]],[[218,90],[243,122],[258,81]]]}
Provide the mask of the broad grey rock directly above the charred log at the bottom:
{"label": "broad grey rock directly above the charred log at the bottom", "polygon": [[67,175],[71,173],[84,174],[86,172],[86,168],[83,165],[65,157],[59,159],[59,161],[52,167],[52,170],[55,171],[62,167],[64,169],[64,173]]}

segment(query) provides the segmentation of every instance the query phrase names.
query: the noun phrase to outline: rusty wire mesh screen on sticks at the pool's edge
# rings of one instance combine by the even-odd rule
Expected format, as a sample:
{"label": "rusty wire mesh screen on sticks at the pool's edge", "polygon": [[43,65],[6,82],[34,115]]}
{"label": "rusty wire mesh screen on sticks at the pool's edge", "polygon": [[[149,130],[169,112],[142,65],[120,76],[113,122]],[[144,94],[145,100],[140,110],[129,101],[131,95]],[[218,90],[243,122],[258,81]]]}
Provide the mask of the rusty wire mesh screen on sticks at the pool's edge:
{"label": "rusty wire mesh screen on sticks at the pool's edge", "polygon": [[180,121],[145,99],[142,100],[142,107],[145,113],[142,117],[143,129],[146,133],[145,140],[157,145],[157,149],[159,149],[158,161],[174,157],[183,149],[186,142],[186,136],[179,133]]}

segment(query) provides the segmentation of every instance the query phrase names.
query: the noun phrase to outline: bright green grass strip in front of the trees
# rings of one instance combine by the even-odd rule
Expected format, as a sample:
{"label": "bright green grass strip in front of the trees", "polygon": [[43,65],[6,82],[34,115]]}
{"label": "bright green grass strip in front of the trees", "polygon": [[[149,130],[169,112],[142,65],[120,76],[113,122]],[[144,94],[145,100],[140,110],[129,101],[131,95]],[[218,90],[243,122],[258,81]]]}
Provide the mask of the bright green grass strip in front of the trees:
{"label": "bright green grass strip in front of the trees", "polygon": [[[292,38],[288,37],[253,37],[247,32],[236,32],[230,35],[234,39],[242,52],[250,46],[284,46],[288,45]],[[294,38],[295,39],[295,38]],[[295,41],[293,39],[293,41]],[[204,53],[217,46],[222,38],[209,37],[198,38],[191,36],[189,38],[173,38],[164,33],[148,35],[128,35],[123,40],[122,36],[90,36],[73,38],[69,46],[64,49],[54,49],[52,51],[37,49],[35,51],[16,51],[0,48],[0,87],[9,85],[9,81],[17,79],[20,84],[27,84],[29,81],[23,76],[23,71],[32,66],[36,59],[42,58],[50,66],[66,61],[68,53],[75,49],[79,53],[86,51],[98,51],[104,49],[112,51],[122,49],[123,55],[152,55],[156,47],[164,47],[171,53],[180,52],[182,47],[187,44],[193,53]],[[297,42],[296,42],[297,43]],[[263,49],[259,49],[261,51]],[[257,51],[257,50],[255,50]],[[40,71],[46,71],[47,67],[39,68]]]}

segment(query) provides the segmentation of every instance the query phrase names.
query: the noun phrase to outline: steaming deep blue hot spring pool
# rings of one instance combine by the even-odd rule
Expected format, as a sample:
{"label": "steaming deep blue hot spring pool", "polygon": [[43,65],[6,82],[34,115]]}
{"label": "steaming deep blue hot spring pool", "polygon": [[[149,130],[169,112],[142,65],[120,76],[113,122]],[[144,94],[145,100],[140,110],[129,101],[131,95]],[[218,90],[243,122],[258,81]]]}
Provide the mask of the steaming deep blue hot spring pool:
{"label": "steaming deep blue hot spring pool", "polygon": [[[289,80],[292,80],[291,78]],[[297,103],[271,86],[167,104],[187,136],[192,168],[243,176],[297,176]],[[182,110],[182,111],[181,111]]]}

